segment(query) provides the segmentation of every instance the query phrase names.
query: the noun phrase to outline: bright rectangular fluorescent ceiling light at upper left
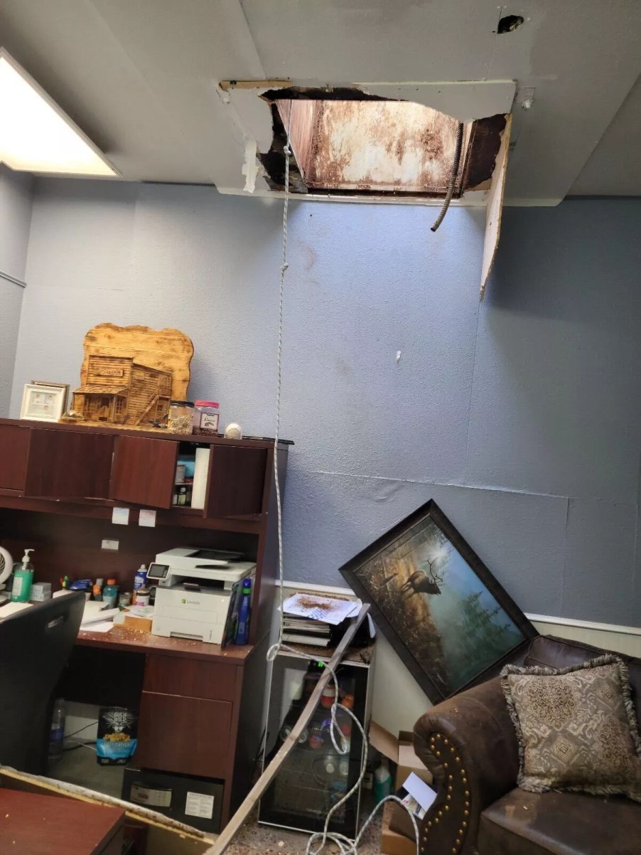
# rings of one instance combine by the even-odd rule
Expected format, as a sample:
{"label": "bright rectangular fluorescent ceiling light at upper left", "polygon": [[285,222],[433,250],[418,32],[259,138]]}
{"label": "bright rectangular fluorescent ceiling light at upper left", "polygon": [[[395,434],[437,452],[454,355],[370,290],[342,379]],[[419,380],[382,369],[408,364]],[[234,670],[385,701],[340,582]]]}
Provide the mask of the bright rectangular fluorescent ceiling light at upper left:
{"label": "bright rectangular fluorescent ceiling light at upper left", "polygon": [[0,162],[61,175],[118,171],[25,69],[0,48]]}

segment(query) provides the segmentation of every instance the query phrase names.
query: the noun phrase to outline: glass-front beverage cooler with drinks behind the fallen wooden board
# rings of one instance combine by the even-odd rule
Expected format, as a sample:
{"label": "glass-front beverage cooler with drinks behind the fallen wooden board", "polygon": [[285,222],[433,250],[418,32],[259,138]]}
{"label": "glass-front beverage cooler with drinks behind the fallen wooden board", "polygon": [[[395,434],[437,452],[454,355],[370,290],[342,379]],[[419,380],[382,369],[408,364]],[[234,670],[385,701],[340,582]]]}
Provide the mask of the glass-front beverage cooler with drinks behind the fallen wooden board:
{"label": "glass-front beverage cooler with drinks behind the fallen wooden board", "polygon": [[[328,659],[303,658],[280,651],[274,660],[266,765],[291,733]],[[373,657],[372,663],[363,663],[356,652],[354,661],[348,659],[336,670],[339,703],[350,708],[363,727],[368,723],[370,714],[371,664]],[[285,758],[278,775],[262,797],[259,823],[300,831],[322,831],[328,811],[355,785],[362,764],[362,736],[350,716],[338,710],[338,725],[349,749],[346,754],[336,751],[330,734],[333,699],[334,682],[330,679],[297,745]],[[336,740],[340,744],[338,734]],[[359,789],[333,814],[329,830],[356,837],[360,801]]]}

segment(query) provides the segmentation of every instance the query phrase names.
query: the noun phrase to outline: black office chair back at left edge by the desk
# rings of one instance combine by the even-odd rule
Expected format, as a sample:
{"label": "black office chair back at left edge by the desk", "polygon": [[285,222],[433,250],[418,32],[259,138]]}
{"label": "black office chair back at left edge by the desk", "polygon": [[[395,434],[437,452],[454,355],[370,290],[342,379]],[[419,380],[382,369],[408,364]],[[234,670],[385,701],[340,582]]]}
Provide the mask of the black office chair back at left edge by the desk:
{"label": "black office chair back at left edge by the desk", "polygon": [[84,609],[80,591],[5,618],[0,609],[0,765],[46,771],[52,694]]}

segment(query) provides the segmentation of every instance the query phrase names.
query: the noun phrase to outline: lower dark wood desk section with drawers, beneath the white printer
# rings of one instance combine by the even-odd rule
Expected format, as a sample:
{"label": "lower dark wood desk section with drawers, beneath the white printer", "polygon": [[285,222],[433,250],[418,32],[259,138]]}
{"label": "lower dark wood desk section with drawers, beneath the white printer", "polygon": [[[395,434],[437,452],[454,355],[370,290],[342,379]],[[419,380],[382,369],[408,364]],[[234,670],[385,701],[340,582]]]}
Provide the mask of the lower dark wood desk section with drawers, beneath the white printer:
{"label": "lower dark wood desk section with drawers, beneath the white printer", "polygon": [[249,789],[260,747],[267,646],[267,636],[221,650],[122,627],[81,630],[61,693],[139,710],[134,763],[222,781],[225,825]]}

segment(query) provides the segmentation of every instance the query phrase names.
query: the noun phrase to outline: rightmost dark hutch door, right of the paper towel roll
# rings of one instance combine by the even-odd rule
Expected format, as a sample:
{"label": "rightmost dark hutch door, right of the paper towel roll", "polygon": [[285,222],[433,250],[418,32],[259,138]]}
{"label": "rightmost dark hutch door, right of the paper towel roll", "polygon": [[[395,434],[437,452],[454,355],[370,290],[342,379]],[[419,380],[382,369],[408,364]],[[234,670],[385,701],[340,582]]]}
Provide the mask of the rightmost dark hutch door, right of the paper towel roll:
{"label": "rightmost dark hutch door, right of the paper towel roll", "polygon": [[205,516],[260,514],[267,457],[266,448],[212,445]]}

